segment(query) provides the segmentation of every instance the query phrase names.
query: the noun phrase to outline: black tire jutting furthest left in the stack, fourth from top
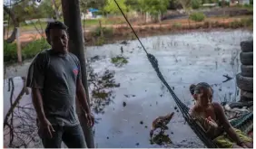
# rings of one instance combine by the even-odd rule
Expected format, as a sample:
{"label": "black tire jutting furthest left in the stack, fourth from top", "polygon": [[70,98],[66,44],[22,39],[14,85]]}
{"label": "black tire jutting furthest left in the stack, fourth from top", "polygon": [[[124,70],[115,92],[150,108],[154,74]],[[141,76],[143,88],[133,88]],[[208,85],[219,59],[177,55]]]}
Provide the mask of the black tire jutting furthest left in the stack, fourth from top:
{"label": "black tire jutting furthest left in the stack, fourth from top", "polygon": [[236,82],[238,88],[241,90],[253,92],[253,78],[251,77],[243,77],[241,73],[236,75]]}

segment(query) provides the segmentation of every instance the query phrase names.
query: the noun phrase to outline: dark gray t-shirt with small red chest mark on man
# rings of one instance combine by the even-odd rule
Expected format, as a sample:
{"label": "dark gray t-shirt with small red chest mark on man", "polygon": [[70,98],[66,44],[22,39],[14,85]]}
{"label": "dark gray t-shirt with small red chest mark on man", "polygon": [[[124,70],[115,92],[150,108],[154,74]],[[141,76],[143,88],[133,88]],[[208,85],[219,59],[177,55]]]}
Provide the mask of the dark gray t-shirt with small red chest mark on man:
{"label": "dark gray t-shirt with small red chest mark on man", "polygon": [[52,125],[79,124],[75,111],[76,80],[81,78],[80,62],[68,52],[41,51],[29,67],[26,87],[41,90],[44,114]]}

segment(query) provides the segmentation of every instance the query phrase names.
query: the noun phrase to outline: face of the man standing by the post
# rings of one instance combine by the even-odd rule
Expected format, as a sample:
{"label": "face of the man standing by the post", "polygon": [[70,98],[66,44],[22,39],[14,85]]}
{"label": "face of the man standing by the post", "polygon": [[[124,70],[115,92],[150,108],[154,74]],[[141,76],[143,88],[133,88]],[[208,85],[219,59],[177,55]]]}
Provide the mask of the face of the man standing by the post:
{"label": "face of the man standing by the post", "polygon": [[62,29],[51,29],[49,42],[52,45],[54,51],[61,53],[67,52],[68,38],[65,30]]}

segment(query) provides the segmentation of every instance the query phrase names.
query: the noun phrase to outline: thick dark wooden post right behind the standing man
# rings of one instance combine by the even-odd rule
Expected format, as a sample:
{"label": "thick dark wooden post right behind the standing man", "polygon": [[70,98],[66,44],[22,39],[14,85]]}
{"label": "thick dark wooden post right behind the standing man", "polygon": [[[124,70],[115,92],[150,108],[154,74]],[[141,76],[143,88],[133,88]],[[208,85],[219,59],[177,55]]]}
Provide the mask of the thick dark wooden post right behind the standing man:
{"label": "thick dark wooden post right behind the standing man", "polygon": [[[84,33],[82,30],[81,14],[79,7],[79,0],[62,0],[62,8],[64,15],[64,23],[68,27],[69,34],[69,51],[73,52],[74,55],[80,61],[82,81],[86,92],[86,98],[90,105],[89,92],[87,85],[87,74],[86,74],[86,61],[84,56]],[[79,106],[77,105],[77,108]],[[79,112],[79,111],[78,111]],[[78,113],[79,115],[79,113]],[[94,148],[94,134],[92,128],[87,126],[87,120],[84,116],[79,115],[81,126],[84,130],[85,141],[88,148]]]}

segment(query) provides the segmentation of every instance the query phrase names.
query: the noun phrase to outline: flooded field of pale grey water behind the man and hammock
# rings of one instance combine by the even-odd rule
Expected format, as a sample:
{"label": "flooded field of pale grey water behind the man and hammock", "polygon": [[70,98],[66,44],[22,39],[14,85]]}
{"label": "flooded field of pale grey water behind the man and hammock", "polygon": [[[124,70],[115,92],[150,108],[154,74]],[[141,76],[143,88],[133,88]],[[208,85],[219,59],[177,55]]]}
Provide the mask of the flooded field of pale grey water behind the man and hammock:
{"label": "flooded field of pale grey water behind the man and hammock", "polygon": [[[201,81],[212,85],[215,101],[238,98],[235,79],[223,82],[226,79],[223,75],[234,78],[240,71],[240,42],[251,38],[252,33],[236,30],[164,35],[144,38],[142,42],[158,59],[162,75],[177,97],[192,106],[189,86]],[[86,58],[90,97],[97,118],[94,126],[97,147],[203,147],[184,123],[182,113],[175,109],[172,96],[162,86],[138,41],[87,47]],[[6,78],[25,76],[29,62],[21,67],[8,67]],[[15,78],[14,84],[16,98],[23,87],[22,79]],[[5,115],[10,107],[11,91],[8,89],[5,79]],[[34,116],[30,103],[30,95],[25,95],[19,107],[29,107]],[[149,131],[153,119],[172,112],[175,112],[174,117],[162,140],[156,136],[151,141]],[[34,121],[34,118],[30,117],[30,120]],[[36,130],[32,142],[37,141],[35,136]],[[8,144],[8,138],[6,135],[5,144]],[[28,146],[34,147],[33,144]]]}

